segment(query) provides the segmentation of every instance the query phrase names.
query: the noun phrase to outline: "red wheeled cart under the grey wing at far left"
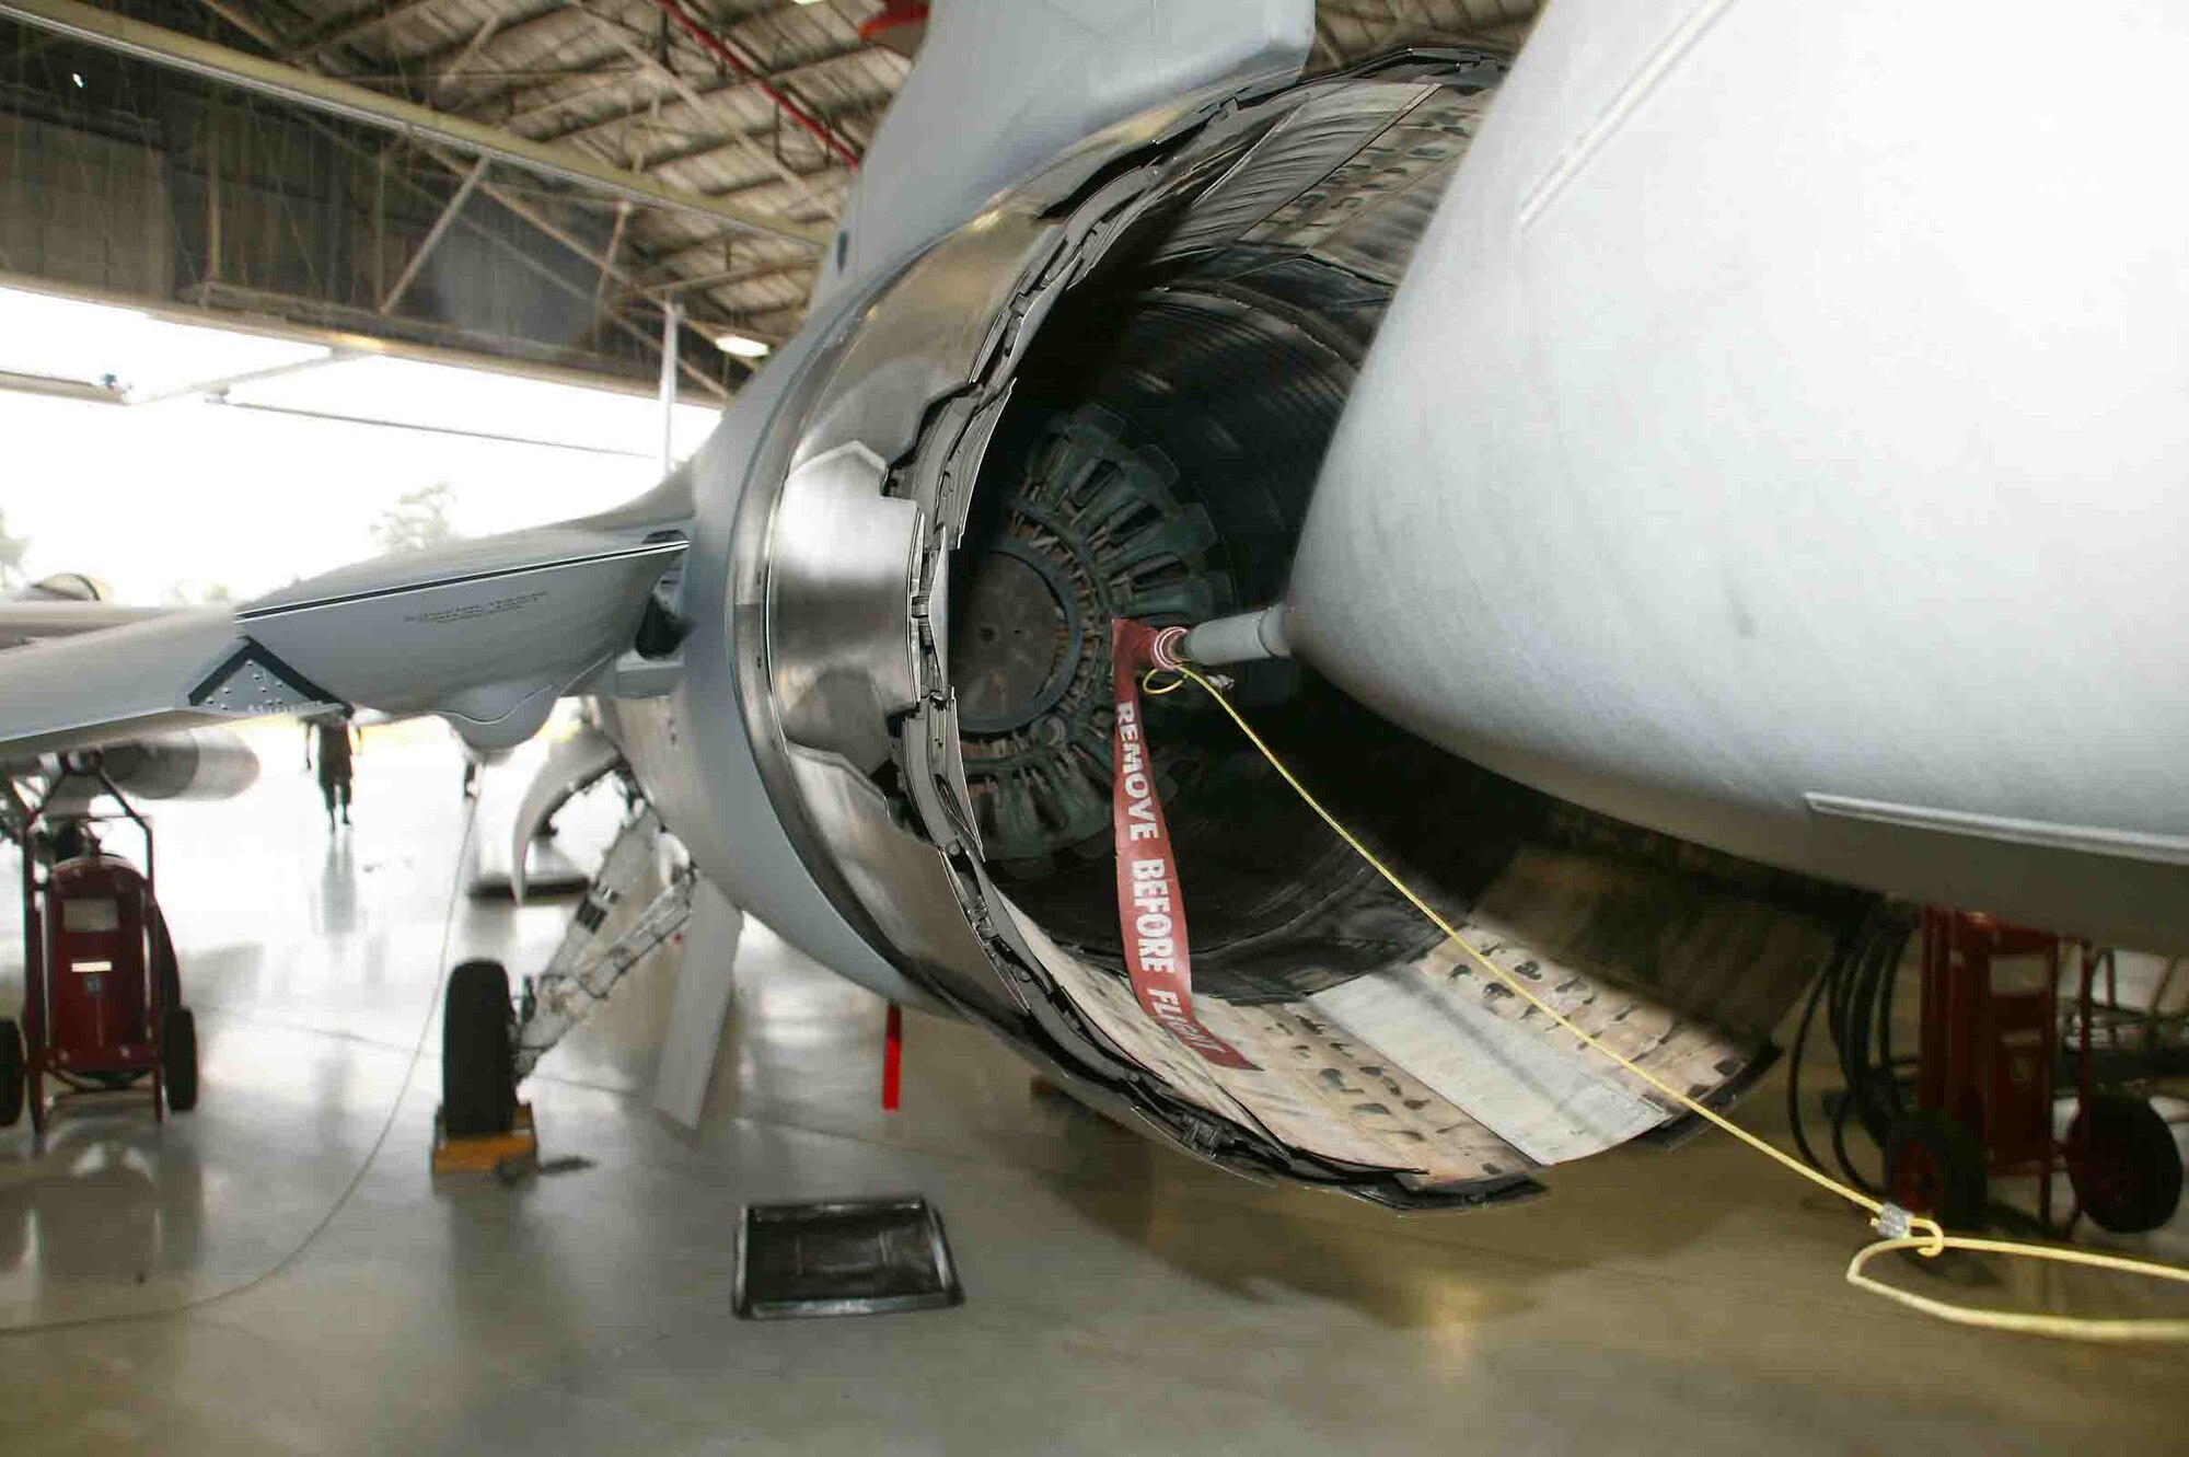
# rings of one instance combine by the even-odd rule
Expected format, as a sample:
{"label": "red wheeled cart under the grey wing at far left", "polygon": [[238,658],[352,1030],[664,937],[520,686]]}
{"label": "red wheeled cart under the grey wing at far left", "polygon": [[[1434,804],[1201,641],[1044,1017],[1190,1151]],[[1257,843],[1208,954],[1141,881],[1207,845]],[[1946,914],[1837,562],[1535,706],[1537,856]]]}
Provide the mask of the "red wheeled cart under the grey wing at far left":
{"label": "red wheeled cart under the grey wing at far left", "polygon": [[[48,816],[57,792],[83,777],[120,812]],[[125,820],[144,838],[142,873],[99,844],[101,825]],[[153,895],[151,825],[96,761],[66,770],[24,829],[22,943],[22,1028],[0,1022],[0,1127],[28,1103],[44,1131],[77,1094],[140,1092],[162,1120],[169,1107],[197,1105],[197,1026]],[[48,1079],[59,1083],[53,1098]]]}

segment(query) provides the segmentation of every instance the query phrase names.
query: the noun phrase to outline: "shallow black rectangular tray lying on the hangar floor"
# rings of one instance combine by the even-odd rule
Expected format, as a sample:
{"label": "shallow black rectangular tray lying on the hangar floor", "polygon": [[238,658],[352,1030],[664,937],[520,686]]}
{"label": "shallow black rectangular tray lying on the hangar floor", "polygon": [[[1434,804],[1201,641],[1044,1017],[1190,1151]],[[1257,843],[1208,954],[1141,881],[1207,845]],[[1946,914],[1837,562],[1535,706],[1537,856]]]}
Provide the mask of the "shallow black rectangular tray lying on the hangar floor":
{"label": "shallow black rectangular tray lying on the hangar floor", "polygon": [[751,1203],[738,1223],[742,1319],[884,1315],[963,1299],[943,1221],[919,1194]]}

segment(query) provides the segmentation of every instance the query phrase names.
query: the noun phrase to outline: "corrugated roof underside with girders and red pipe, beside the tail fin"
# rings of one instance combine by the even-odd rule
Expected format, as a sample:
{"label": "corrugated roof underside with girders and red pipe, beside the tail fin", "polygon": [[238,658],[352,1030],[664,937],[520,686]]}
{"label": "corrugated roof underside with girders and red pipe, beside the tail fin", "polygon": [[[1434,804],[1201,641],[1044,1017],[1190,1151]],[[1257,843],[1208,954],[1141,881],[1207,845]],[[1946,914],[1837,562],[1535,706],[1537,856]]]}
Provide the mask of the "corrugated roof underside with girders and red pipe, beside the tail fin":
{"label": "corrugated roof underside with girders and red pipe, beside the tail fin", "polygon": [[[862,42],[882,0],[679,0],[731,53],[865,151],[908,61]],[[749,77],[670,20],[657,0],[289,0],[296,63],[578,147],[679,188],[736,197],[797,221],[834,221],[849,168]],[[1429,35],[1519,39],[1534,0],[1320,0],[1316,63]],[[633,212],[615,263],[676,287],[711,319],[786,335],[814,258],[705,219]]]}

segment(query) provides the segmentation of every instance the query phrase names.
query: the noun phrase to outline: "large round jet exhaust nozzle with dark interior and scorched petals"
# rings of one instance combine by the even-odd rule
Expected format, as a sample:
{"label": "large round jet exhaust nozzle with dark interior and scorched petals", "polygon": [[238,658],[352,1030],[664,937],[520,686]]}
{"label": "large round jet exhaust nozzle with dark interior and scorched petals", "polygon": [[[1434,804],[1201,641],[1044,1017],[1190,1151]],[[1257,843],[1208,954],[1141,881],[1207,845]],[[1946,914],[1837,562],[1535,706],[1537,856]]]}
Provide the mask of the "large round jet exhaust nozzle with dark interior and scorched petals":
{"label": "large round jet exhaust nozzle with dark interior and scorched petals", "polygon": [[[740,593],[771,604],[773,691],[746,713],[779,728],[764,774],[845,914],[1114,1116],[1405,1208],[1534,1192],[1541,1166],[1686,1114],[1471,965],[1195,691],[1145,724],[1195,1004],[1254,1068],[1175,1044],[1123,971],[1108,641],[1114,617],[1281,595],[1502,74],[1493,53],[1410,53],[1033,179],[867,306],[814,370],[779,497],[744,508],[773,512],[746,567],[766,582]],[[1305,665],[1243,665],[1232,691],[1475,945],[1690,1096],[1769,1065],[1802,987],[1876,923],[1876,897],[1453,759]]]}

